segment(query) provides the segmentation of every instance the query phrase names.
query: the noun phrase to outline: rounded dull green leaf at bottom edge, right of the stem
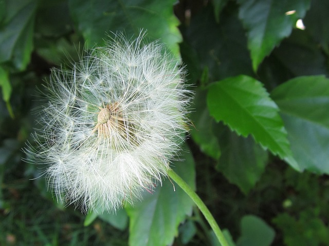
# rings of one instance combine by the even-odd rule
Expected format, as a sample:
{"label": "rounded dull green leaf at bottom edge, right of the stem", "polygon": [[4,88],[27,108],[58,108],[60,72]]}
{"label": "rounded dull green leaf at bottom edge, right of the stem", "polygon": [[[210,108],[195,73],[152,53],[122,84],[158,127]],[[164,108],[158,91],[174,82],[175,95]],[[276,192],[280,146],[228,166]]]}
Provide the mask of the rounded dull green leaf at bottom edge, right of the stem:
{"label": "rounded dull green leaf at bottom edge, right of the stem", "polygon": [[246,215],[241,219],[241,237],[237,246],[269,246],[275,236],[275,231],[261,218]]}

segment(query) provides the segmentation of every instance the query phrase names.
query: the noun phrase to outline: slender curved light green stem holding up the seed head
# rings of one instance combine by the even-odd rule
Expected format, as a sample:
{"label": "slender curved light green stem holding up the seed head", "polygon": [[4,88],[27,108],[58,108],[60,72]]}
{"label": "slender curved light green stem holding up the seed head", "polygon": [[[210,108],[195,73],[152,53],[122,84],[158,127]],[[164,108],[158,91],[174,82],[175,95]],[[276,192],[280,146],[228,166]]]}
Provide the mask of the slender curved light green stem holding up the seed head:
{"label": "slender curved light green stem holding up the seed head", "polygon": [[208,223],[210,224],[211,229],[215,233],[218,241],[222,244],[222,246],[229,246],[223,232],[221,231],[220,227],[216,223],[216,220],[206,207],[205,203],[200,199],[200,197],[191,189],[191,187],[181,179],[173,170],[169,170],[168,172],[169,177],[174,180],[177,185],[188,194],[188,196],[194,201],[196,206],[199,210],[203,213],[205,218],[207,219]]}

